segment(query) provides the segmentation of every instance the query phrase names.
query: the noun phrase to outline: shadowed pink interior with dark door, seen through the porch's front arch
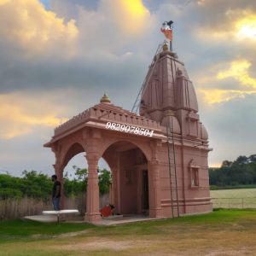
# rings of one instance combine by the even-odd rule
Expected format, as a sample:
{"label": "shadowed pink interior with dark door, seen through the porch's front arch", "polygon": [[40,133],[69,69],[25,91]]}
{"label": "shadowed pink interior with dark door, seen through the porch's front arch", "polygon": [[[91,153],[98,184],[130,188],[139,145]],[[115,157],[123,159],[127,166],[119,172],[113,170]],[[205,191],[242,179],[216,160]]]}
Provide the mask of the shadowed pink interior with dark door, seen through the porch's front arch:
{"label": "shadowed pink interior with dark door, seen through the porch's front arch", "polygon": [[112,170],[114,212],[148,215],[148,160],[143,151],[122,141],[109,146],[102,157]]}

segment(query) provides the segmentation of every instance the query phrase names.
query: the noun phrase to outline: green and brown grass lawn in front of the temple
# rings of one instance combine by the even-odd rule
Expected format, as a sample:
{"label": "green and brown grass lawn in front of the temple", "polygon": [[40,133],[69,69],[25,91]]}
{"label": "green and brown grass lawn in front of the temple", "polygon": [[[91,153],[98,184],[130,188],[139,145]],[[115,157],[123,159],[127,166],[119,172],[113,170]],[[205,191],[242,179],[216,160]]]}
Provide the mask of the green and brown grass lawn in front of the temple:
{"label": "green and brown grass lawn in front of the temple", "polygon": [[256,211],[117,226],[0,222],[0,255],[256,255]]}

